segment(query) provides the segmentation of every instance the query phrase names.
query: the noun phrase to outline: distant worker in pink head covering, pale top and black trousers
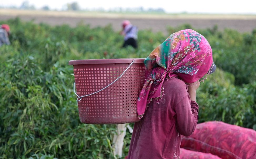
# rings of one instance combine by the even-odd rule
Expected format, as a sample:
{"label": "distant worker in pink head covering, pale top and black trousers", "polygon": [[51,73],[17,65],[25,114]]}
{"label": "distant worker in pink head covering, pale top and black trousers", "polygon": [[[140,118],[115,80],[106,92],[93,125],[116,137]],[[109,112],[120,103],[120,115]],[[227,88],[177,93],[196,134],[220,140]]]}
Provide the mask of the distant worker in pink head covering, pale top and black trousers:
{"label": "distant worker in pink head covering, pale top and black trousers", "polygon": [[137,33],[138,29],[136,26],[132,25],[129,20],[124,20],[122,22],[123,30],[120,32],[121,35],[124,35],[124,44],[123,47],[131,45],[134,48],[137,48]]}

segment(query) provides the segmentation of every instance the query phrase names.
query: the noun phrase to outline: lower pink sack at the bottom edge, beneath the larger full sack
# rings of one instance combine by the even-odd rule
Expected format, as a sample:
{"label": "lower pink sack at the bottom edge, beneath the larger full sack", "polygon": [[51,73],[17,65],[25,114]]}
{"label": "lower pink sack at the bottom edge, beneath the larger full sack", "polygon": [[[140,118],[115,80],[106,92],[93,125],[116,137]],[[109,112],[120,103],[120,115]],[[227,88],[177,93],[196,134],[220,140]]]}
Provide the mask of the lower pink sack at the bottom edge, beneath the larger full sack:
{"label": "lower pink sack at the bottom edge, beneath the larger full sack", "polygon": [[203,152],[180,149],[180,159],[221,159],[218,156]]}

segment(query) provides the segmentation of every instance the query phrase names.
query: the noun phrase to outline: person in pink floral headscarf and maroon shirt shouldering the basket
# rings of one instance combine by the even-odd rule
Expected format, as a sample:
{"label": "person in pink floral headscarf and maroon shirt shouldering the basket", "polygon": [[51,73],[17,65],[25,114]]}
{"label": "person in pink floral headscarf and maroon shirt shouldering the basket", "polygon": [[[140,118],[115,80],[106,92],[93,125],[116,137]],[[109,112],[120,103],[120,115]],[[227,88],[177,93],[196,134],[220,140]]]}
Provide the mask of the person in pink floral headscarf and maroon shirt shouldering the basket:
{"label": "person in pink floral headscarf and maroon shirt shouldering the basket", "polygon": [[144,63],[146,81],[137,101],[141,121],[134,124],[128,159],[179,159],[181,135],[191,135],[197,125],[196,90],[216,69],[211,46],[196,31],[181,30]]}

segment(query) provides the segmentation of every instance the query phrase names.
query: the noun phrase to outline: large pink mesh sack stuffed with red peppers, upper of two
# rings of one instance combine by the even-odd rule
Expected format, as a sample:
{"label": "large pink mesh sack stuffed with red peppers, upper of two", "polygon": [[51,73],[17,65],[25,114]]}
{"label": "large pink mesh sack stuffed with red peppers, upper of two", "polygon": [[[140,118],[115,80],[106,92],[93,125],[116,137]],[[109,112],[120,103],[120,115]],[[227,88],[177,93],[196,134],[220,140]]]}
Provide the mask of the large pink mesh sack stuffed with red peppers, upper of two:
{"label": "large pink mesh sack stuffed with red peppers, upper of two", "polygon": [[182,138],[181,147],[225,159],[255,159],[256,131],[218,121],[200,123]]}

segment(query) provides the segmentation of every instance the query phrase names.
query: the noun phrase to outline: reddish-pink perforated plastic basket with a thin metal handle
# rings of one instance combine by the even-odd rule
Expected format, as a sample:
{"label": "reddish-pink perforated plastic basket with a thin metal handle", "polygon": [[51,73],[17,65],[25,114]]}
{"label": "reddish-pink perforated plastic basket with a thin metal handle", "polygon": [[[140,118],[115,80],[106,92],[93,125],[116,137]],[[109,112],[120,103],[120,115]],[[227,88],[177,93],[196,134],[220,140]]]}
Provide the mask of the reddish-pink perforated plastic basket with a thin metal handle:
{"label": "reddish-pink perforated plastic basket with a thin metal handle", "polygon": [[74,92],[76,88],[80,121],[88,124],[140,121],[136,102],[145,83],[144,60],[69,61],[69,65],[74,66]]}

